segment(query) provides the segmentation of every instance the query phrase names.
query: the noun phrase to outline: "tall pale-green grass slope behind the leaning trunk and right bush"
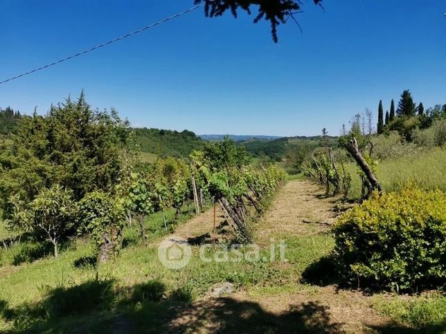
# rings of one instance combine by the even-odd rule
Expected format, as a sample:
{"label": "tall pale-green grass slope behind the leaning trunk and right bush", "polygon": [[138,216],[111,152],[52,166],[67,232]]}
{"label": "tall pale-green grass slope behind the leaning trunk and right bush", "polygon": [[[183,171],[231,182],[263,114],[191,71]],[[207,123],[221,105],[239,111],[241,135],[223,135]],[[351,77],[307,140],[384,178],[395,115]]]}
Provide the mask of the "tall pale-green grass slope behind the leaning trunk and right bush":
{"label": "tall pale-green grass slope behind the leaning trunk and right bush", "polygon": [[[361,197],[361,180],[355,164],[348,165],[352,175],[352,198]],[[422,189],[446,191],[446,149],[436,147],[416,156],[386,159],[376,167],[376,176],[385,192],[396,192],[410,182]]]}

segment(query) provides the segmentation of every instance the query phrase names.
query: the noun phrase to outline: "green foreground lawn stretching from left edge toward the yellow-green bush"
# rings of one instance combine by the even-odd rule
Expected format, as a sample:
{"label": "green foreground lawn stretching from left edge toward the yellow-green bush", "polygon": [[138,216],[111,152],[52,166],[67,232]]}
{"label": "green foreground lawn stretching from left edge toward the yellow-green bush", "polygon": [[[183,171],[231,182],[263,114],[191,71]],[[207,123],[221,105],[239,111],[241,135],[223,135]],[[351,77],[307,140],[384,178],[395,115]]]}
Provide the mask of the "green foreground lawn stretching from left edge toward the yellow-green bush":
{"label": "green foreground lawn stretching from left edge toward the yellow-green bush", "polygon": [[[166,216],[171,221],[173,212],[167,212]],[[182,219],[187,217],[184,212]],[[150,234],[148,243],[154,243],[152,247],[141,245],[138,234],[127,227],[126,247],[116,259],[98,266],[89,261],[94,254],[91,243],[78,239],[58,259],[47,254],[31,263],[19,266],[7,263],[0,267],[0,315],[3,313],[0,331],[45,331],[47,328],[64,331],[73,325],[75,318],[86,323],[89,331],[95,331],[96,326],[98,330],[111,326],[116,313],[130,312],[131,317],[137,318],[136,308],[143,308],[145,315],[154,315],[150,325],[161,330],[165,324],[161,320],[157,323],[157,319],[161,319],[162,312],[168,312],[173,304],[205,295],[211,286],[220,282],[229,281],[235,288],[249,289],[253,295],[311,289],[296,284],[296,279],[310,263],[328,254],[333,244],[329,234],[287,238],[289,263],[286,266],[265,261],[264,257],[269,259],[269,248],[260,250],[258,261],[208,263],[199,259],[199,248],[193,246],[188,266],[168,270],[157,257],[157,243],[173,228],[166,232],[161,214],[150,216],[145,227]],[[210,256],[217,250],[211,250]],[[8,252],[18,251],[15,248]],[[278,251],[276,254],[278,257]],[[79,266],[79,263],[87,264]],[[157,301],[146,301],[147,298]],[[71,304],[64,301],[68,299]],[[84,299],[97,307],[84,310]]]}

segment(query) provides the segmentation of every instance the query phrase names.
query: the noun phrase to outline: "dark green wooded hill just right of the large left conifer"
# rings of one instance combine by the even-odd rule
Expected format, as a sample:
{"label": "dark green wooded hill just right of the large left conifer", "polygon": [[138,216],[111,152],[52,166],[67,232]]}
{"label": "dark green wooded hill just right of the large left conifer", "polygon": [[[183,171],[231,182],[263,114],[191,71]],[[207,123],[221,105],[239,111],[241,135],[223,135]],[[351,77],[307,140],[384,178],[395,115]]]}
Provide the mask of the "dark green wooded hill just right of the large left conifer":
{"label": "dark green wooded hill just right of the large left conifer", "polygon": [[186,158],[194,149],[203,145],[203,140],[192,131],[172,131],[163,129],[134,128],[136,142],[141,151],[154,159],[156,156],[177,156]]}

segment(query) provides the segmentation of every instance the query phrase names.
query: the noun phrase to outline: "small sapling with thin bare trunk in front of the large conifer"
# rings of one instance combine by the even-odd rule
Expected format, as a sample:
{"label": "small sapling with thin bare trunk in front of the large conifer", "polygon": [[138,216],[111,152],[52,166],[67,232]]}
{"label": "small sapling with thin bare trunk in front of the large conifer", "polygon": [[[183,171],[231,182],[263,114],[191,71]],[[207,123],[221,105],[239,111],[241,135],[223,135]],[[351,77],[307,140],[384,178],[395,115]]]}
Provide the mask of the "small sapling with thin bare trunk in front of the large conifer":
{"label": "small sapling with thin bare trunk in front of the large conifer", "polygon": [[44,232],[46,239],[53,243],[55,257],[60,239],[74,227],[75,209],[71,191],[60,185],[43,188],[29,204],[30,224],[35,232]]}

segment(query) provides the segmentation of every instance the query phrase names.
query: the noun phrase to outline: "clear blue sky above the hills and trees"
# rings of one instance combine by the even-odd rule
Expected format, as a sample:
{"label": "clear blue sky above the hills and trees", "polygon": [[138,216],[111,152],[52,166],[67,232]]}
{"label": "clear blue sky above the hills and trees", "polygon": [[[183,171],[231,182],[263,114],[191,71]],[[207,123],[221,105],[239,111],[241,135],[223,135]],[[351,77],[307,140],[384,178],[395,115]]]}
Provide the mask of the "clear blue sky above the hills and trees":
{"label": "clear blue sky above the hills and trees", "polygon": [[[444,0],[303,1],[303,28],[200,8],[107,48],[0,85],[0,106],[46,113],[82,89],[134,126],[199,134],[337,135],[410,89],[446,103]],[[0,0],[0,81],[141,28],[192,0]],[[376,115],[375,115],[376,120]]]}

